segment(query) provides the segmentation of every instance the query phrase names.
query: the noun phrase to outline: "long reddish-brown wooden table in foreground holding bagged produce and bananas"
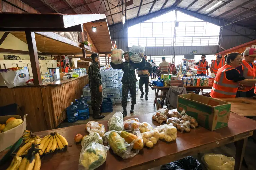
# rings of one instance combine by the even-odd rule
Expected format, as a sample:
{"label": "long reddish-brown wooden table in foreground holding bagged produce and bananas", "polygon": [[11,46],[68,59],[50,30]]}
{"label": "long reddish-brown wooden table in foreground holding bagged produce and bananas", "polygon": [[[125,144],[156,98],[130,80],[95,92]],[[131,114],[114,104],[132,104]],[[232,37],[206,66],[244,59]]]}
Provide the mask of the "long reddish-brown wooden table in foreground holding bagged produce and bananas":
{"label": "long reddish-brown wooden table in foreground holding bagged produce and bananas", "polygon": [[[159,124],[152,120],[151,115],[151,113],[140,115],[138,116],[139,121],[148,122],[153,127],[158,126]],[[124,120],[128,118],[124,118]],[[99,123],[102,123],[108,131],[107,121],[99,121]],[[144,147],[138,155],[130,159],[121,159],[110,149],[107,153],[106,162],[97,170],[145,170],[235,141],[237,146],[235,170],[239,170],[247,138],[252,135],[255,129],[256,121],[231,113],[227,127],[215,131],[198,127],[196,130],[182,134],[178,131],[175,141],[166,143],[159,140],[153,148]],[[80,143],[75,143],[74,136],[77,133],[87,135],[85,125],[41,131],[35,134],[44,137],[55,131],[63,135],[70,146],[66,152],[59,151],[41,157],[41,170],[77,170],[82,147]],[[4,167],[8,167],[8,163]]]}

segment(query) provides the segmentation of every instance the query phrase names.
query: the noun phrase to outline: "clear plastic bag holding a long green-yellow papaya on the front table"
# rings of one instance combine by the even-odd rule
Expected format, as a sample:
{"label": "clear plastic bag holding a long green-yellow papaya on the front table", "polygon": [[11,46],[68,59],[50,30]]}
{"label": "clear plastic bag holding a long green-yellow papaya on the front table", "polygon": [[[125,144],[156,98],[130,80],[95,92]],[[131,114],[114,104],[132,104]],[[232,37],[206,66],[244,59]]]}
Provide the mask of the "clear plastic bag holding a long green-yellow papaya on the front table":
{"label": "clear plastic bag holding a long green-yellow papaya on the front table", "polygon": [[113,152],[123,159],[134,157],[139,153],[139,150],[132,149],[135,141],[128,144],[118,132],[110,131],[106,135],[106,138],[108,139],[108,144]]}

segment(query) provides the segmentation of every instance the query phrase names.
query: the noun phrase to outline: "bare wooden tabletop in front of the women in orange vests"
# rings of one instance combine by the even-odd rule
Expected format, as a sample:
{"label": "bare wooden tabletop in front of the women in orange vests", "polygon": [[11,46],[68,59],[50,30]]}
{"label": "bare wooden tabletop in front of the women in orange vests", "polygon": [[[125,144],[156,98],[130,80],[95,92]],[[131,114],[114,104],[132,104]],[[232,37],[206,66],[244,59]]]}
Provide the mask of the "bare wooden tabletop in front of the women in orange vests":
{"label": "bare wooden tabletop in front of the women in orange vests", "polygon": [[231,112],[240,116],[256,116],[256,99],[254,98],[217,98],[231,103]]}

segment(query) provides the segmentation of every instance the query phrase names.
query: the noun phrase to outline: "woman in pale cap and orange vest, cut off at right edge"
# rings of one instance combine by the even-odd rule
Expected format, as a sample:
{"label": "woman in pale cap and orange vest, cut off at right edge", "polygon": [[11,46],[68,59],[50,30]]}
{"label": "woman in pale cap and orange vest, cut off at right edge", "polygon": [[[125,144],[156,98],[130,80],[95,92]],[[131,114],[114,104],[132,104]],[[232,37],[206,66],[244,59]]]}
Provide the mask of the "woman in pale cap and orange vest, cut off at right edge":
{"label": "woman in pale cap and orange vest, cut off at right edge", "polygon": [[[243,52],[243,61],[241,66],[236,69],[240,71],[242,77],[246,79],[256,79],[256,64],[254,60],[256,58],[256,49],[250,48]],[[253,97],[255,86],[244,86],[244,89],[237,91],[236,97]]]}

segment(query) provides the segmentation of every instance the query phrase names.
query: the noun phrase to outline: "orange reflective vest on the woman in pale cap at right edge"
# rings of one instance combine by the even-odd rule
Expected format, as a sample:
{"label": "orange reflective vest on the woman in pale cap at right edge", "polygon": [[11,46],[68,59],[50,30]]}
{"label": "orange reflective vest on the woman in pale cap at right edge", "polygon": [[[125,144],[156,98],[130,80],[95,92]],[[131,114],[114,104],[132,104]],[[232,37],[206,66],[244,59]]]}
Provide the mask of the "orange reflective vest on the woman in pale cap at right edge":
{"label": "orange reflective vest on the woman in pale cap at right edge", "polygon": [[[250,66],[249,63],[247,63],[245,60],[242,61],[241,66],[242,66],[242,70],[243,70],[243,77],[246,79],[254,79],[256,78],[256,64],[253,62],[252,63],[253,67]],[[244,90],[239,90],[242,92],[247,92],[249,90],[251,90],[252,88],[255,88],[255,86],[253,87],[245,87]]]}

